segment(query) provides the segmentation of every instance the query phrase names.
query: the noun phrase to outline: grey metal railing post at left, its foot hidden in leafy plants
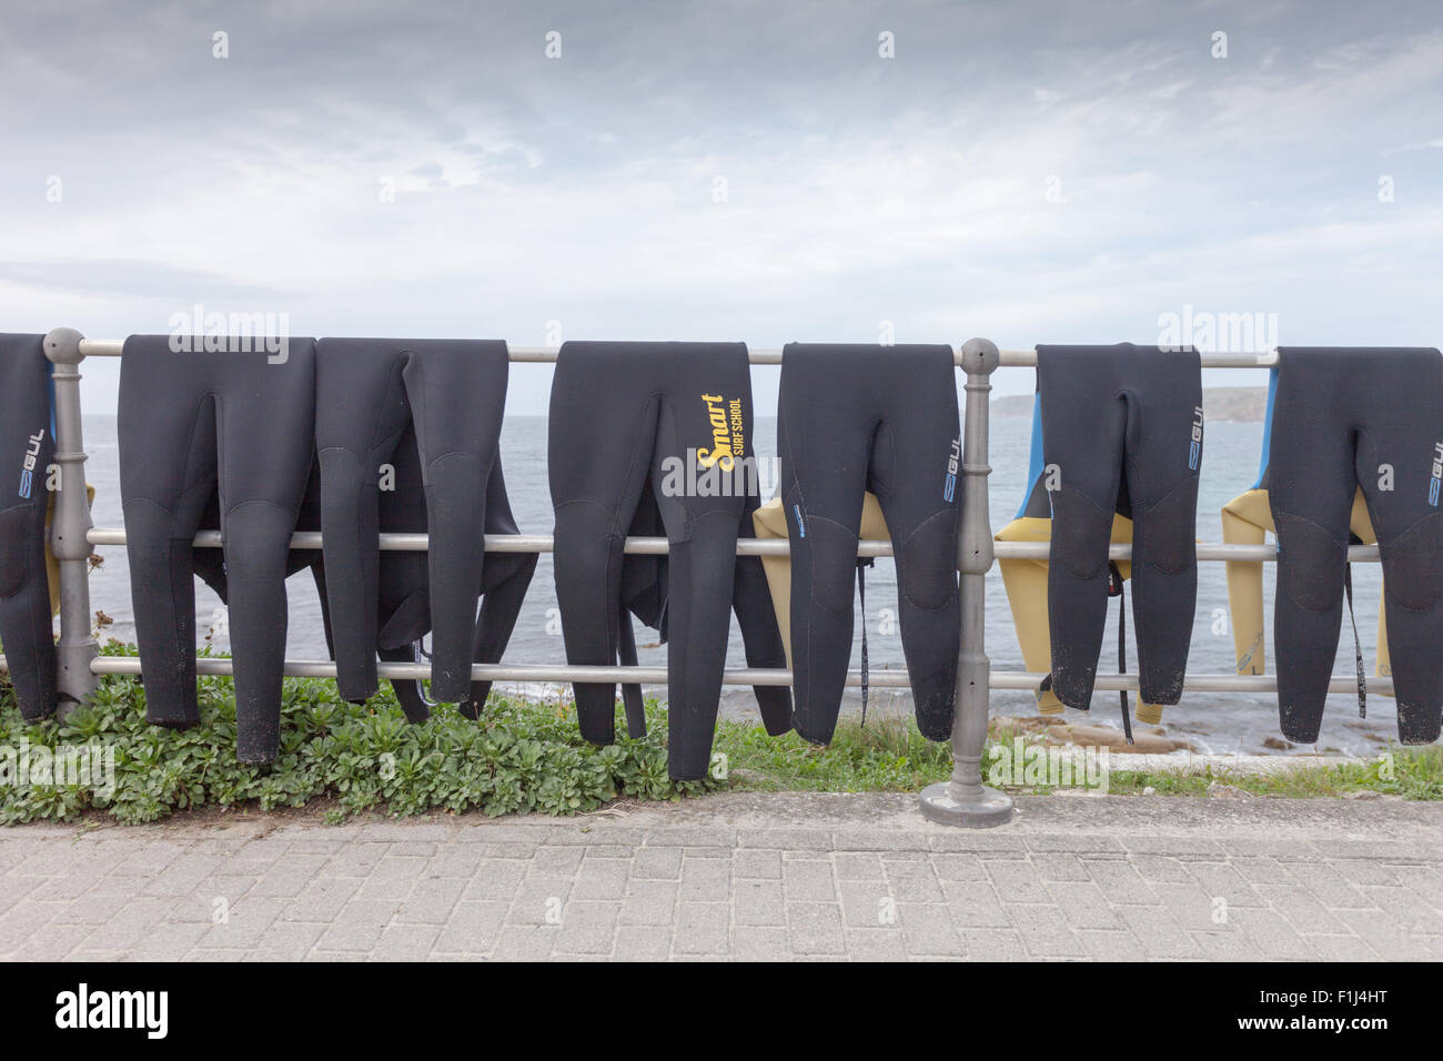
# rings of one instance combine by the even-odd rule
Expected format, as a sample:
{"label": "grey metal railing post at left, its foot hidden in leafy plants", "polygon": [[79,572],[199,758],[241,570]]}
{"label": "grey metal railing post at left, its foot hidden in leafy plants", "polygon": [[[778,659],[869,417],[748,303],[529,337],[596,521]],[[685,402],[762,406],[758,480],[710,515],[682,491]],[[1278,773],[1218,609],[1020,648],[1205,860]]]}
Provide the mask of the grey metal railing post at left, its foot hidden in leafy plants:
{"label": "grey metal railing post at left, its foot hidden in leafy plants", "polygon": [[95,691],[89,664],[98,648],[91,635],[89,502],[85,497],[85,439],[81,432],[81,339],[74,328],[45,336],[45,357],[55,370],[55,463],[59,489],[51,518],[51,551],[61,567],[61,639],[56,644],[56,689],[61,713]]}

